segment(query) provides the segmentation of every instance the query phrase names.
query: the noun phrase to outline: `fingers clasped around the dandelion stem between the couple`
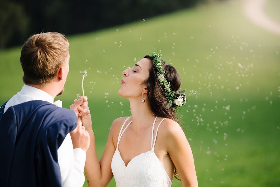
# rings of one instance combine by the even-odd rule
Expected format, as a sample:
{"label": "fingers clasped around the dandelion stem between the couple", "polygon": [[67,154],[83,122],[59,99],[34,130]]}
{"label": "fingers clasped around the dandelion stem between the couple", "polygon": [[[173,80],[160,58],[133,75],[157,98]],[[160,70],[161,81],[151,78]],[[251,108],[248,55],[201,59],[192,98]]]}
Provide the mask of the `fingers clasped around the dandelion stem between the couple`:
{"label": "fingers clasped around the dandelion stem between the couple", "polygon": [[70,109],[75,112],[77,118],[79,116],[88,115],[90,110],[88,108],[87,97],[81,96],[78,100],[75,99],[74,103],[70,106]]}

